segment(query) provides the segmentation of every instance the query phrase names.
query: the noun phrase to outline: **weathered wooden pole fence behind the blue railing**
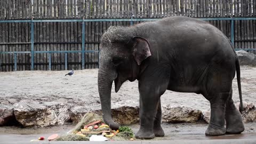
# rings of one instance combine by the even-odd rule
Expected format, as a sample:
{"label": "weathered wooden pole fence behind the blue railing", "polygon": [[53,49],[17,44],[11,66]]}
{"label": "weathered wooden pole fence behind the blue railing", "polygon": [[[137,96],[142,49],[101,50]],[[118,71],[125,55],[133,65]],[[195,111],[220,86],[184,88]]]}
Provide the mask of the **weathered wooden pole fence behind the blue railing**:
{"label": "weathered wooden pole fence behind the blue railing", "polygon": [[[2,9],[1,9],[2,8]],[[183,15],[194,18],[256,17],[256,0],[1,0],[0,20],[130,19]],[[141,21],[134,22],[140,23]],[[209,21],[230,39],[230,21]],[[256,20],[234,21],[235,48],[256,48]],[[0,23],[1,51],[30,51],[30,23]],[[99,50],[111,25],[130,22],[85,22],[85,50]],[[82,22],[36,22],[35,51],[81,51]],[[255,52],[255,51],[254,51]],[[52,53],[51,70],[65,69],[65,54]],[[81,69],[81,53],[68,54],[68,69]],[[17,54],[17,70],[30,70],[31,54]],[[47,70],[46,53],[35,54],[35,70]],[[98,68],[98,53],[85,53],[85,68]],[[14,70],[13,54],[0,54],[0,71]]]}

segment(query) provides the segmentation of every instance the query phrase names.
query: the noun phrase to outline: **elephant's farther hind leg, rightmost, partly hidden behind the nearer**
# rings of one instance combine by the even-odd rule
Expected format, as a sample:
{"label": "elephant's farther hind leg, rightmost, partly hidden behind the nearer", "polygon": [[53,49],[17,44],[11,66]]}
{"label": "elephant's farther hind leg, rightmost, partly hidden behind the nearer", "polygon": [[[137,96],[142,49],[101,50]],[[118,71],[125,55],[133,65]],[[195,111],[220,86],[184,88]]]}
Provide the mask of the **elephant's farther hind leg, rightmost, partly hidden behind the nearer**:
{"label": "elephant's farther hind leg, rightmost, partly hidden behind the nearer", "polygon": [[226,103],[226,133],[237,134],[244,131],[242,116],[232,100],[232,90]]}

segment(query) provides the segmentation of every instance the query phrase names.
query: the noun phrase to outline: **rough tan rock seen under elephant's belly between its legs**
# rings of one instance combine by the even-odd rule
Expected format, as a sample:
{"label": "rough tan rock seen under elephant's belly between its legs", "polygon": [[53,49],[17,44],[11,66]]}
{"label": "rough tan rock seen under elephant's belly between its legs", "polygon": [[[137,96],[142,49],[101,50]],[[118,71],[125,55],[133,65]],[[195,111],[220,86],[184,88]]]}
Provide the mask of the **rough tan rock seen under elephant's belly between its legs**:
{"label": "rough tan rock seen under elephant's belly between its legs", "polygon": [[193,123],[201,118],[201,110],[197,110],[185,106],[170,106],[164,105],[162,108],[163,122],[170,123]]}

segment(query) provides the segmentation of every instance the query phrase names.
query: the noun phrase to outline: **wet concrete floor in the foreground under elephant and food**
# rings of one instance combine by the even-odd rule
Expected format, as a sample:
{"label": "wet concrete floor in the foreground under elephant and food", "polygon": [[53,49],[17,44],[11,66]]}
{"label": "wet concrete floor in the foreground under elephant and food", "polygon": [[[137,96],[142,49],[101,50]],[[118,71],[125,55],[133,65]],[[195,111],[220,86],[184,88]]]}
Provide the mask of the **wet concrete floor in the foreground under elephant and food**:
{"label": "wet concrete floor in the foreground under elephant and food", "polygon": [[[22,129],[19,127],[6,126],[0,127],[0,143],[32,143],[30,140],[37,139],[38,137],[49,137],[51,134],[58,133],[59,135],[67,133],[75,125],[62,125],[62,126],[53,126],[53,127],[44,127],[44,128],[30,128]],[[139,129],[139,124],[130,125],[134,132],[137,132]],[[162,127],[165,131],[165,137],[156,137],[150,141],[188,141],[188,140],[215,140],[215,139],[243,139],[250,140],[256,143],[256,123],[246,123],[245,131],[241,134],[226,134],[215,137],[207,137],[204,132],[207,128],[205,123],[179,123],[179,124],[170,124],[163,123]],[[143,140],[148,141],[148,140]],[[42,141],[45,143],[46,141]],[[196,141],[195,141],[196,142]],[[35,142],[38,143],[38,142]],[[48,143],[48,142],[47,142]],[[50,142],[52,143],[52,142]]]}

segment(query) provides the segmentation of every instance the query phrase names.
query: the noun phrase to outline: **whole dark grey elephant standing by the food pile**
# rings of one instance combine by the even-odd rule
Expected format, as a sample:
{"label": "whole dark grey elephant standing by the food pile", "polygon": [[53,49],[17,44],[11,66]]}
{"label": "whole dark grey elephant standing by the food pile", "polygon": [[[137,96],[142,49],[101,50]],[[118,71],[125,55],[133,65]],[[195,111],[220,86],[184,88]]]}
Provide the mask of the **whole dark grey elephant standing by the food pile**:
{"label": "whole dark grey elephant standing by the food pile", "polygon": [[[171,17],[131,27],[110,27],[101,38],[98,88],[103,119],[118,129],[111,118],[111,85],[139,81],[139,139],[163,137],[160,97],[166,90],[202,94],[211,103],[206,135],[244,131],[242,117],[232,100],[232,81],[237,55],[221,31],[207,22]],[[242,110],[242,107],[241,107]],[[226,120],[226,128],[225,128]]]}

